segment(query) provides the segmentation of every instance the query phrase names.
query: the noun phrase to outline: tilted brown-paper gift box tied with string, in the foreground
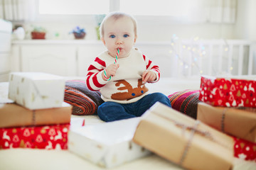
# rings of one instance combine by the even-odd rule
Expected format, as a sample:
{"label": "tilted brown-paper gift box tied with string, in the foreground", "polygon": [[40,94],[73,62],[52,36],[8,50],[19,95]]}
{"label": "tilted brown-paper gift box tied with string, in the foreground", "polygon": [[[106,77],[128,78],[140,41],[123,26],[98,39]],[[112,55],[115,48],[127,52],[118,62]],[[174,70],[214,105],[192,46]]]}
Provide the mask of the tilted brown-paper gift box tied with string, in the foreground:
{"label": "tilted brown-paper gift box tied with string, in the foreground", "polygon": [[233,138],[164,104],[144,113],[133,141],[186,169],[231,169]]}

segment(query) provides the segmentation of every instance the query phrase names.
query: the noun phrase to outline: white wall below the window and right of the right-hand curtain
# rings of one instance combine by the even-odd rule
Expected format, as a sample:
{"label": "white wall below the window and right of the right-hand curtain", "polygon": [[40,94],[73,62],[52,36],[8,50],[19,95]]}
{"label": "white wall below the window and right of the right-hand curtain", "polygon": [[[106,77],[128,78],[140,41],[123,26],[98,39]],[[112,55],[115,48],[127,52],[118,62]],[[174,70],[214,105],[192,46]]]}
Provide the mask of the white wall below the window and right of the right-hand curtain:
{"label": "white wall below the window and right of the right-hand curtain", "polygon": [[[156,21],[153,18],[138,21],[138,41],[148,40],[171,40],[172,35],[176,34],[179,38],[201,39],[247,39],[256,40],[256,1],[238,0],[237,21],[236,23],[181,23],[176,21]],[[27,36],[30,38],[32,25],[43,26],[48,30],[48,39],[73,39],[73,35],[68,34],[75,26],[86,28],[87,40],[96,40],[95,18],[85,18],[73,21],[71,18],[49,18],[48,21],[37,21],[34,23],[21,23],[26,28]],[[55,37],[58,33],[59,37]]]}

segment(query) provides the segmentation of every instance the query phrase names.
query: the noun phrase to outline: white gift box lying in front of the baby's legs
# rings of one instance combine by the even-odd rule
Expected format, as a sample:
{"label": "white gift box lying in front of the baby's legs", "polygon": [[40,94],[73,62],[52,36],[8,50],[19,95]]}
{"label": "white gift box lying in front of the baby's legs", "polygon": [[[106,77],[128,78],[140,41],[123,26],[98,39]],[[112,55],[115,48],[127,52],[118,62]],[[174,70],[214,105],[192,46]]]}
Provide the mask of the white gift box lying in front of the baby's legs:
{"label": "white gift box lying in front of the baby's legs", "polygon": [[112,168],[151,152],[132,142],[140,118],[71,128],[68,149],[105,168]]}

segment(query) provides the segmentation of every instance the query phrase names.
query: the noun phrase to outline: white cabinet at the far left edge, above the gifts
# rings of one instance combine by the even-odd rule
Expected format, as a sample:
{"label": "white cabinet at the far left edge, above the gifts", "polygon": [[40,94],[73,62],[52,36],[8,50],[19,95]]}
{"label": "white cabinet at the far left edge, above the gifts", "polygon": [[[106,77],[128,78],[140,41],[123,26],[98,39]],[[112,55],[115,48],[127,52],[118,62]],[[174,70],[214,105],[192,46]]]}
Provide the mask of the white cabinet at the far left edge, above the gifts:
{"label": "white cabinet at the far left edge, above the gifts", "polygon": [[0,82],[8,81],[11,70],[11,23],[0,19]]}

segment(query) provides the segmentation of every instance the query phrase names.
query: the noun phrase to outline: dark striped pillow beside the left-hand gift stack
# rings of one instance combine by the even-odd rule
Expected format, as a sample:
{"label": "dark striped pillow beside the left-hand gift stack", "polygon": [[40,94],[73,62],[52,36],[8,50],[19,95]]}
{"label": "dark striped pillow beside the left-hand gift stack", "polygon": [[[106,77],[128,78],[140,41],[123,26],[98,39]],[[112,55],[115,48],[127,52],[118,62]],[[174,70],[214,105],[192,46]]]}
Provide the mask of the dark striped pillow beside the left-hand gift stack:
{"label": "dark striped pillow beside the left-hand gift stack", "polygon": [[85,81],[65,81],[64,101],[73,106],[73,115],[97,114],[98,106],[104,102],[100,96],[100,91],[90,91]]}

